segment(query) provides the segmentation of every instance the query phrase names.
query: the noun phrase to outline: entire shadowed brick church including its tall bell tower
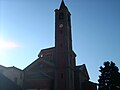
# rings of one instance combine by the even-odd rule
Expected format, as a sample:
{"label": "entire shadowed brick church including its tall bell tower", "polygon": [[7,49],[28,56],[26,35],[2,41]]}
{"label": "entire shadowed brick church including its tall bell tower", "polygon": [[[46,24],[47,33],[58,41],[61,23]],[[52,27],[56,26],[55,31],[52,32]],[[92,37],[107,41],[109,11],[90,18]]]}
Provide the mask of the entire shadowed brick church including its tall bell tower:
{"label": "entire shadowed brick church including its tall bell tower", "polygon": [[55,47],[42,49],[33,63],[20,70],[23,90],[97,90],[85,64],[76,66],[71,34],[71,14],[62,0],[55,10]]}

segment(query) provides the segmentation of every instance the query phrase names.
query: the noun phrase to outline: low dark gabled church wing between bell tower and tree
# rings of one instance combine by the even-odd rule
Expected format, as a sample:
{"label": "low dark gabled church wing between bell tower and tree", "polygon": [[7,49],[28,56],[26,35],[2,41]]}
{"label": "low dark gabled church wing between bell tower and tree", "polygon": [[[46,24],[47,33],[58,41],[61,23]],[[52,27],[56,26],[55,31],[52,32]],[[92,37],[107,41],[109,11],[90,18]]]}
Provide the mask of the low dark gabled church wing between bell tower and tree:
{"label": "low dark gabled church wing between bell tower and tree", "polygon": [[97,84],[90,80],[86,65],[75,67],[75,90],[97,90]]}

